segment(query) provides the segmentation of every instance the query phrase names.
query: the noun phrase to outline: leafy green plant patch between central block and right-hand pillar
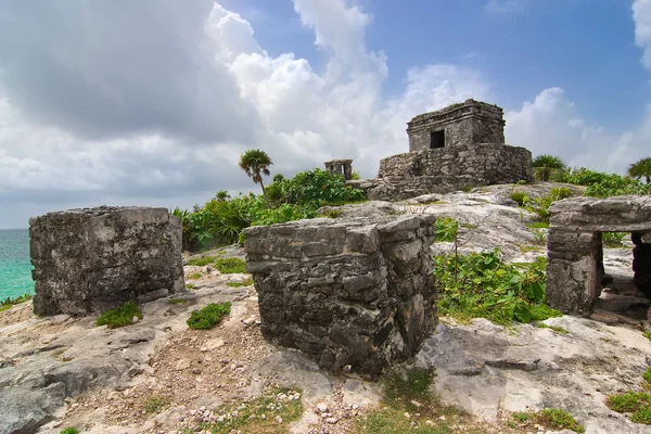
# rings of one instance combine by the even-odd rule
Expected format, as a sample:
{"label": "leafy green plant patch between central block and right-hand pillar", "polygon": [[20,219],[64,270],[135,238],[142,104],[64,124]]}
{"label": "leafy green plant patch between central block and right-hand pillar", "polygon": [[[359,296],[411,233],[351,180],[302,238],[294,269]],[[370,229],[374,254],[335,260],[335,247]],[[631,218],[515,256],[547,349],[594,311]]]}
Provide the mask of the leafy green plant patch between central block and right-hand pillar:
{"label": "leafy green plant patch between central block and right-hand pillar", "polygon": [[545,263],[506,264],[499,250],[468,256],[438,255],[434,276],[438,309],[460,320],[487,318],[498,324],[540,321],[561,314],[545,304]]}

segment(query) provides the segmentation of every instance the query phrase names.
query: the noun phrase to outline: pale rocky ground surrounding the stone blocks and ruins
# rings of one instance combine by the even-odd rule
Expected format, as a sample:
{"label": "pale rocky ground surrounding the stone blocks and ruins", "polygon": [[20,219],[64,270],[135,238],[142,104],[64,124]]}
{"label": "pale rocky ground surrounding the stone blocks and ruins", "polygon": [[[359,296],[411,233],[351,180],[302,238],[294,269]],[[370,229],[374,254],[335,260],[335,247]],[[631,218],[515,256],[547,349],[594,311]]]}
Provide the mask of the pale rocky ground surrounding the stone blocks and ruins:
{"label": "pale rocky ground surrounding the stone blocks and ruins", "polygon": [[[551,187],[518,189],[535,197]],[[509,260],[533,260],[545,255],[545,246],[527,227],[534,216],[510,201],[513,188],[347,205],[342,212],[450,216],[463,224],[461,252],[498,246]],[[437,252],[450,248],[451,243],[434,246]],[[242,257],[242,252],[230,248],[225,256]],[[604,405],[609,393],[640,391],[641,373],[651,365],[651,342],[640,331],[650,303],[629,284],[630,245],[608,248],[604,265],[614,280],[592,319],[545,321],[567,333],[442,318],[416,363],[436,369],[435,390],[443,403],[470,413],[452,432],[546,432],[509,426],[505,418],[552,407],[570,411],[587,433],[651,432]],[[30,303],[0,312],[0,433],[53,434],[65,426],[89,433],[201,432],[202,423],[244,411],[276,387],[301,392],[273,392],[265,414],[279,431],[260,432],[348,433],[384,405],[381,384],[332,376],[299,353],[267,343],[254,288],[227,285],[246,283],[247,275],[187,266],[186,276],[193,277],[187,281],[193,289],[176,296],[186,303],[149,303],[142,320],[123,329],[97,328],[95,318],[37,318]],[[224,302],[231,302],[232,310],[220,326],[188,329],[193,309]],[[305,413],[286,424],[275,411],[293,400],[303,404]],[[427,422],[408,416],[413,426]]]}

